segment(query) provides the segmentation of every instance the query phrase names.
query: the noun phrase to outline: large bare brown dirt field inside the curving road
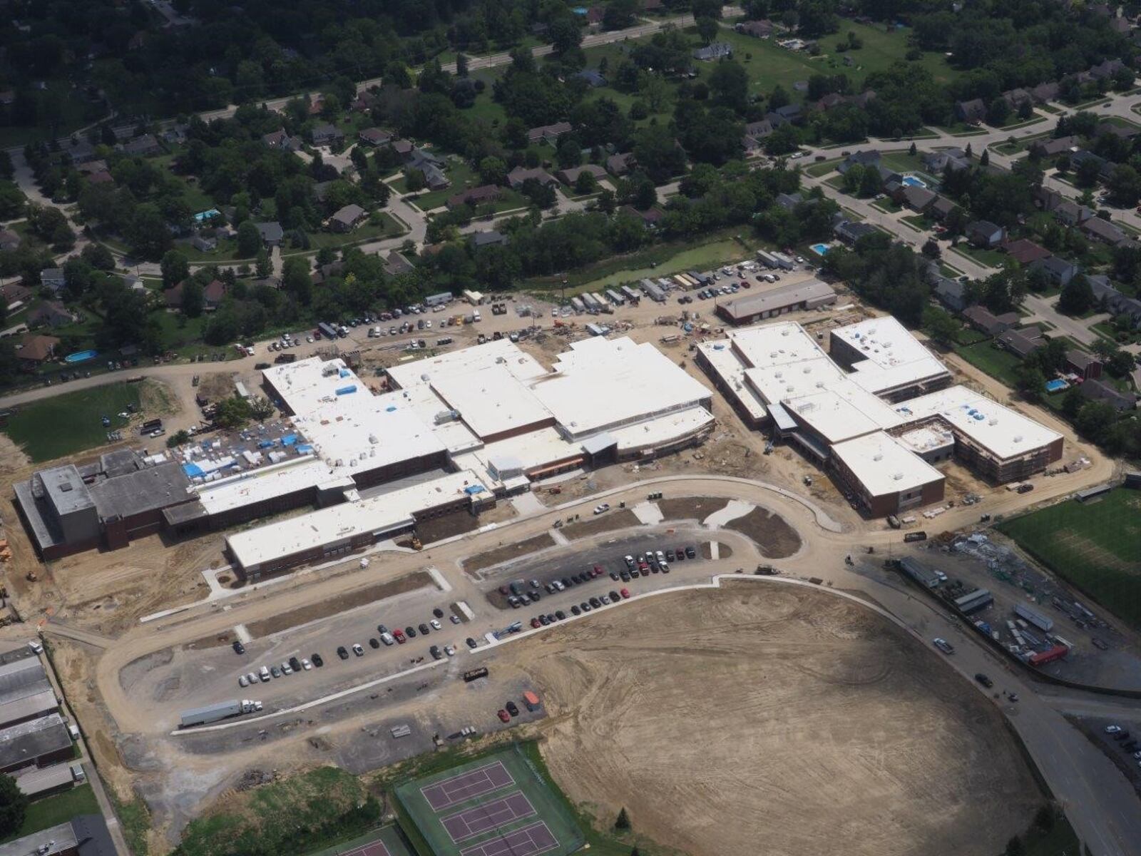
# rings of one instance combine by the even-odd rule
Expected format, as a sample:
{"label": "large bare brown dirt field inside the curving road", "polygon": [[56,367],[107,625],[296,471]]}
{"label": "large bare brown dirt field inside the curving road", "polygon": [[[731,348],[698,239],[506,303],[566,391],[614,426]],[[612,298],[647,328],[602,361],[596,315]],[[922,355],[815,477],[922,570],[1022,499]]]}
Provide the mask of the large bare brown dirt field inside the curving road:
{"label": "large bare brown dirt field inside the curving road", "polygon": [[496,655],[544,693],[543,756],[600,825],[625,806],[691,856],[988,854],[1025,829],[1030,772],[933,652],[824,592],[730,586]]}

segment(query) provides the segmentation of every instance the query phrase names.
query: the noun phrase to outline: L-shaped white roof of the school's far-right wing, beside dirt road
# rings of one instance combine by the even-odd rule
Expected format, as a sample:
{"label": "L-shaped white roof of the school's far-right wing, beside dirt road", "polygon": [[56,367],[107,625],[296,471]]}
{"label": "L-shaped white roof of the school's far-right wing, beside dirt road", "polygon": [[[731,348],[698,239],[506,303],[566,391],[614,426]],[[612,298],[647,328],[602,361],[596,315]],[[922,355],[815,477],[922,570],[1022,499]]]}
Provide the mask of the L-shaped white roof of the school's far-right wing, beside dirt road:
{"label": "L-shaped white roof of the school's far-right wing, beside dirt road", "polygon": [[1061,437],[1058,431],[961,386],[895,406],[907,421],[940,415],[954,430],[1002,460],[1018,458]]}

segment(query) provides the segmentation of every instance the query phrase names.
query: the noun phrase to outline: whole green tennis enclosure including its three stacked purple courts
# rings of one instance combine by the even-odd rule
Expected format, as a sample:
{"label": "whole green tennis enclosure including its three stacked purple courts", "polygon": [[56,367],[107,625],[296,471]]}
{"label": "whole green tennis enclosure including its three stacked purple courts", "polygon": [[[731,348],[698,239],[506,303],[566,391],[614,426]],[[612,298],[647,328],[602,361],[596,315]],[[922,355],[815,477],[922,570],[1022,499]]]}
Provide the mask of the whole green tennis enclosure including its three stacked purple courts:
{"label": "whole green tennis enclosure including its three stacked purple courts", "polygon": [[400,782],[394,793],[420,856],[568,856],[585,843],[566,803],[518,745]]}

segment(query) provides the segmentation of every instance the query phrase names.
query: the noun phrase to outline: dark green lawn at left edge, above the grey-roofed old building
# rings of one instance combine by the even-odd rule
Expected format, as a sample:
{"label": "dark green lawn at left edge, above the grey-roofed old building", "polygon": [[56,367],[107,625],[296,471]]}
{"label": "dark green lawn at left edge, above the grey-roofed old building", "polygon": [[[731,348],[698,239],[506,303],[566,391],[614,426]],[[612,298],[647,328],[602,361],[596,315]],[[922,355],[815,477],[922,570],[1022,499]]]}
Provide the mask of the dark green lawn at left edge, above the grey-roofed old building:
{"label": "dark green lawn at left edge, above the grey-roofed old building", "polygon": [[[0,430],[23,446],[33,461],[50,461],[106,443],[107,431],[126,423],[119,413],[128,404],[138,407],[137,383],[79,389],[19,405]],[[103,427],[103,415],[111,418],[111,428]]]}

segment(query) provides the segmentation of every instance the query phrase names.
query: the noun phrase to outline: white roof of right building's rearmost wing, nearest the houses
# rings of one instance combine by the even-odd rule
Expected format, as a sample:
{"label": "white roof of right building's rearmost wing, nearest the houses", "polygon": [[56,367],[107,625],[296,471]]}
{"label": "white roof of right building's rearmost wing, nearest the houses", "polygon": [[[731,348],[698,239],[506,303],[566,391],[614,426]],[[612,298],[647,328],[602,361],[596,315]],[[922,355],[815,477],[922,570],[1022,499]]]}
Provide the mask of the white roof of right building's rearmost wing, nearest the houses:
{"label": "white roof of right building's rearmost wing, nearest the houses", "polygon": [[832,336],[864,356],[852,364],[852,380],[871,393],[948,374],[947,366],[890,315],[835,328]]}

